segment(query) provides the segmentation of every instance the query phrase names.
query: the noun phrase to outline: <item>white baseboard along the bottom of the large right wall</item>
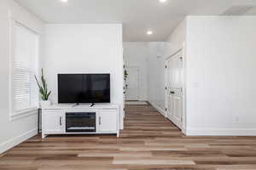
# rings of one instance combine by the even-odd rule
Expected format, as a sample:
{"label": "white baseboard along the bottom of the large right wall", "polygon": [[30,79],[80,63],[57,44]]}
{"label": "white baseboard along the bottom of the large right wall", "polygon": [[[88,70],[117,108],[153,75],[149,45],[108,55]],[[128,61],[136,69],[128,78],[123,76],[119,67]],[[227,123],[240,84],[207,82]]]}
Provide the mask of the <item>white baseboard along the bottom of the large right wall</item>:
{"label": "white baseboard along the bottom of the large right wall", "polygon": [[256,128],[187,128],[187,136],[256,136]]}

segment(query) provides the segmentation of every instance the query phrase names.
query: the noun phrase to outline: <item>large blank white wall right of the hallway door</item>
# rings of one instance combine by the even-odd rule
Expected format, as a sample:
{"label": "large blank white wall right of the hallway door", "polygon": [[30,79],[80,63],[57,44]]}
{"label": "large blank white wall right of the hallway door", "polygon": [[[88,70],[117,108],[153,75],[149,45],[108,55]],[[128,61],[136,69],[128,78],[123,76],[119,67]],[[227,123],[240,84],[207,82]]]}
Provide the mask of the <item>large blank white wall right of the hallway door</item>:
{"label": "large blank white wall right of the hallway door", "polygon": [[189,134],[256,135],[256,17],[190,16]]}

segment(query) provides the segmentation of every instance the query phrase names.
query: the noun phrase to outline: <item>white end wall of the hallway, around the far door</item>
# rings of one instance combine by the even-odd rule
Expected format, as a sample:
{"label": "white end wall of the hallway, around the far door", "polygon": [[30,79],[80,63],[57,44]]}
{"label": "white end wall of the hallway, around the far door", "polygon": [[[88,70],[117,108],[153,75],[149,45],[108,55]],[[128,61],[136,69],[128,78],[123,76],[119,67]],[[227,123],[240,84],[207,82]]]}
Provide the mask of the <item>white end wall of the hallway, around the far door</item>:
{"label": "white end wall of the hallway, around the far door", "polygon": [[126,66],[139,68],[139,100],[146,101],[148,99],[148,42],[124,42],[124,59]]}

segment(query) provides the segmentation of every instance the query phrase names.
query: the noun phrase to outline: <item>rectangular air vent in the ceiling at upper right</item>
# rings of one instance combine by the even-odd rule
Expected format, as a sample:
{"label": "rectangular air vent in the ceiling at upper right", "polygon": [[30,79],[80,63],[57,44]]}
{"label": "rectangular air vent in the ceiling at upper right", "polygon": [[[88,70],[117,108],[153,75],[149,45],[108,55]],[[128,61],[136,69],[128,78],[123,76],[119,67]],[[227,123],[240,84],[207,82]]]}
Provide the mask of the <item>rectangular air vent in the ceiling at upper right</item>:
{"label": "rectangular air vent in the ceiling at upper right", "polygon": [[253,5],[236,5],[228,8],[222,15],[242,15],[254,8]]}

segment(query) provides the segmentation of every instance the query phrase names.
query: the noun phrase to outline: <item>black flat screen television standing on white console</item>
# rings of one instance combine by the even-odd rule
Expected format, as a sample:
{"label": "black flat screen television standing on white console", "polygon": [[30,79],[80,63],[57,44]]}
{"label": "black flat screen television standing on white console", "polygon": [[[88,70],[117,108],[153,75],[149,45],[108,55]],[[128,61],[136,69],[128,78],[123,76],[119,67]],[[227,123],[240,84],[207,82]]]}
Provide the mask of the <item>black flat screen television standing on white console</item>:
{"label": "black flat screen television standing on white console", "polygon": [[58,74],[58,102],[110,103],[110,74]]}

